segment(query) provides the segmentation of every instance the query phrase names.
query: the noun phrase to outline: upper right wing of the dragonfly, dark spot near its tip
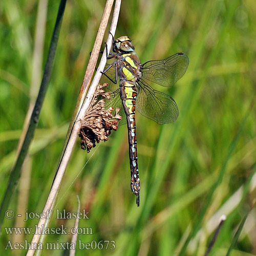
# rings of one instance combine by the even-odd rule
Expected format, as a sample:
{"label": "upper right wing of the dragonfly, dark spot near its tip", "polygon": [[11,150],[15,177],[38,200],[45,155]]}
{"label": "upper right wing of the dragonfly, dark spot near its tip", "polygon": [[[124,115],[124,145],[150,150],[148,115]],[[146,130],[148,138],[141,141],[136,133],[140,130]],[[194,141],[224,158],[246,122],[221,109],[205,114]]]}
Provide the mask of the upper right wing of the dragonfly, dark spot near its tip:
{"label": "upper right wing of the dragonfly, dark spot near its tip", "polygon": [[160,86],[173,86],[186,72],[189,60],[184,53],[176,53],[163,60],[151,60],[142,65],[142,76]]}

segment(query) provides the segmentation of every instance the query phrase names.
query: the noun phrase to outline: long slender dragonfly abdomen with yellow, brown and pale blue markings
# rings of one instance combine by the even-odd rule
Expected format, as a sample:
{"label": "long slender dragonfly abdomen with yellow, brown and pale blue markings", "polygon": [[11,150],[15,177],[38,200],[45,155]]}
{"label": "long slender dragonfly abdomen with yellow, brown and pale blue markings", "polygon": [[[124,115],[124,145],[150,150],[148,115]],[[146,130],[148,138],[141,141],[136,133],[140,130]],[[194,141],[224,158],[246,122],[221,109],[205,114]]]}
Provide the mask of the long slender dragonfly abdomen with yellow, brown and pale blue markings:
{"label": "long slender dragonfly abdomen with yellow, brown and pale blue markings", "polygon": [[120,96],[127,119],[128,137],[129,137],[129,155],[131,169],[131,189],[137,196],[137,206],[139,206],[140,179],[137,157],[137,139],[135,124],[135,104],[137,97],[137,88],[135,82],[123,81],[120,83]]}

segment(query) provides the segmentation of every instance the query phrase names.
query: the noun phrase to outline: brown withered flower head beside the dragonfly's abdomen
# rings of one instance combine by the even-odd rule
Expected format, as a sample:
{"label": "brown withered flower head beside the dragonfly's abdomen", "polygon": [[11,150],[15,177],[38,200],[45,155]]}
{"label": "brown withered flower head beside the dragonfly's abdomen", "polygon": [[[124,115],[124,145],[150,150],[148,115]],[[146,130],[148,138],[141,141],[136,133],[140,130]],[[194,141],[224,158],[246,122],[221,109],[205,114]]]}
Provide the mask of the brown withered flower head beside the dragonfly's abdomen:
{"label": "brown withered flower head beside the dragonfly's abdomen", "polygon": [[[79,137],[81,139],[82,150],[87,150],[88,153],[96,146],[96,142],[99,143],[101,140],[108,140],[111,130],[116,131],[118,129],[118,120],[122,119],[118,114],[119,108],[116,109],[115,116],[112,115],[112,111],[114,110],[112,107],[104,110],[104,99],[110,100],[111,98],[110,93],[105,93],[102,89],[107,86],[108,83],[104,83],[103,86],[101,84],[98,85],[90,108],[82,120]],[[98,101],[100,96],[104,99]]]}

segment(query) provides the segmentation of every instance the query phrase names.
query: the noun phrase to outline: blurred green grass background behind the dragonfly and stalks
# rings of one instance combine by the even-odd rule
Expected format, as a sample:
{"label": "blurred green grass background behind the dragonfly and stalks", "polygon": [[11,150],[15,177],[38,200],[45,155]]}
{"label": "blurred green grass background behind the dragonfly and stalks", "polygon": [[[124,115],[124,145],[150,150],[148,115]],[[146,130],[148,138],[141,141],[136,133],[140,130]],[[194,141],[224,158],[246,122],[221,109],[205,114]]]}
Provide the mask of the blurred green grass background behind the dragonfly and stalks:
{"label": "blurred green grass background behind the dragonfly and stalks", "polygon": [[[0,3],[1,200],[29,106],[37,95],[58,4]],[[44,208],[104,4],[103,0],[67,2],[49,90],[9,206],[15,215]],[[130,189],[125,125],[89,154],[80,149],[77,138],[57,209],[76,211],[79,195],[81,208],[90,212],[90,219],[80,220],[79,227],[91,228],[78,235],[80,243],[114,240],[116,248],[110,250],[112,243],[108,250],[77,248],[76,255],[179,255],[191,232],[195,236],[184,255],[204,255],[223,214],[227,221],[210,255],[226,254],[246,214],[231,255],[256,254],[256,106],[251,104],[255,24],[254,0],[122,2],[116,37],[130,36],[142,63],[176,52],[184,52],[190,63],[182,79],[164,91],[179,106],[175,123],[158,125],[136,114],[139,208]],[[51,226],[70,228],[74,221],[54,218]],[[4,227],[34,230],[37,222],[5,219]],[[1,254],[25,255],[26,250],[4,249],[8,241],[30,242],[32,235],[15,236],[3,228],[0,239]],[[46,242],[68,241],[69,234],[50,234]],[[53,253],[68,255],[64,250],[42,254]]]}

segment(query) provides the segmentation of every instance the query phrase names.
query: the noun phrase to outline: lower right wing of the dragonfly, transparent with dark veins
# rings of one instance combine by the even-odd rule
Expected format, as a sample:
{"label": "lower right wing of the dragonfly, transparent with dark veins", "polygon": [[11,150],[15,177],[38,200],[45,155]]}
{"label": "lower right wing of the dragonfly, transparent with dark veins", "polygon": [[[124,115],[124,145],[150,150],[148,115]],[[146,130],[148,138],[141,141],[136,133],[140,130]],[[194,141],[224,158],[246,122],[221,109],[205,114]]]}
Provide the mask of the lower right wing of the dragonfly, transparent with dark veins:
{"label": "lower right wing of the dragonfly, transparent with dark veins", "polygon": [[159,124],[172,123],[178,118],[178,106],[172,97],[154,90],[143,79],[138,82],[138,89],[136,108],[140,114]]}

